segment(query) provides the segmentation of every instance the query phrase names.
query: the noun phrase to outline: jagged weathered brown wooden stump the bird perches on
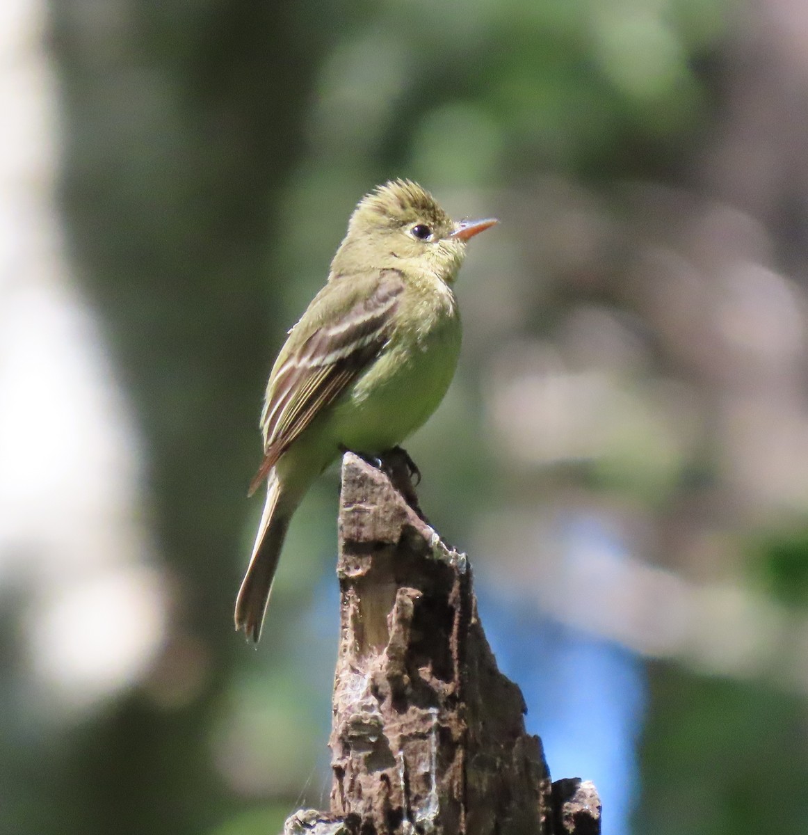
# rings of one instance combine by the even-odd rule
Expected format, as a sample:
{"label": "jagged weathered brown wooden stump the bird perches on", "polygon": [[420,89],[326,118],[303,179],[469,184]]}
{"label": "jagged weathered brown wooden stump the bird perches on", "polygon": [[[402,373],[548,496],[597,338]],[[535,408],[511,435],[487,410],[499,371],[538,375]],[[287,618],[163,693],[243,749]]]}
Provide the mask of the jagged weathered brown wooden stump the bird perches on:
{"label": "jagged weathered brown wooden stump the bird perches on", "polygon": [[522,693],[482,631],[467,559],[393,487],[402,466],[343,459],[331,812],[299,813],[287,831],[598,832],[599,806],[598,817],[563,806],[579,781],[551,789]]}

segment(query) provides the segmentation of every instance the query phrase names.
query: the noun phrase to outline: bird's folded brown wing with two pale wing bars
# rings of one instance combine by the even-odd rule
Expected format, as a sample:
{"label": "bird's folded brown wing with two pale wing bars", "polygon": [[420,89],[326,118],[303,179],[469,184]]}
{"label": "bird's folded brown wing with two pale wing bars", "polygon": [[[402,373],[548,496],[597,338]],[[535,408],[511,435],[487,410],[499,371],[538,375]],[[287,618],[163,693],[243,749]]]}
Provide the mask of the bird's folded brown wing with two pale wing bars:
{"label": "bird's folded brown wing with two pale wing bars", "polygon": [[250,483],[250,495],[290,443],[351,385],[390,336],[391,316],[404,289],[401,273],[385,270],[366,279],[346,276],[344,281],[351,281],[351,294],[341,311],[334,315],[329,310],[333,288],[326,285],[275,362],[261,414],[264,460]]}

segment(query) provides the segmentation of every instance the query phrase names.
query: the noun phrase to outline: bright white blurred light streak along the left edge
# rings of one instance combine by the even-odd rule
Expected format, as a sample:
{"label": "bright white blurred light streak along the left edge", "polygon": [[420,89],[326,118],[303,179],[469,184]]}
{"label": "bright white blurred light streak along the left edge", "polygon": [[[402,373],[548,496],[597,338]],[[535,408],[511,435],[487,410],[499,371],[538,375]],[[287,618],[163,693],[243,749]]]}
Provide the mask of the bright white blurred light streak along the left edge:
{"label": "bright white blurred light streak along the left edge", "polygon": [[0,9],[0,595],[28,613],[15,684],[72,716],[143,676],[166,595],[129,410],[64,262],[45,4]]}

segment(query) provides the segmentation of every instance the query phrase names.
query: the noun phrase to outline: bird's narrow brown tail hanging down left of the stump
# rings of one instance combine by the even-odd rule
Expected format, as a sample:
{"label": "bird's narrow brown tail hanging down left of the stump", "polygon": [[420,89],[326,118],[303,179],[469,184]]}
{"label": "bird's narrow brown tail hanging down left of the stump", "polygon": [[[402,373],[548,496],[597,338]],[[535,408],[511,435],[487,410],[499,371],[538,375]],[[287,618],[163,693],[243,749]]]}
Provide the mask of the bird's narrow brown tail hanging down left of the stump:
{"label": "bird's narrow brown tail hanging down left of the stump", "polygon": [[261,625],[264,623],[266,605],[270,600],[272,579],[280,559],[280,549],[286,537],[286,529],[294,508],[282,507],[280,484],[273,470],[267,483],[266,504],[261,514],[261,524],[255,537],[250,564],[235,599],[235,629],[258,643]]}

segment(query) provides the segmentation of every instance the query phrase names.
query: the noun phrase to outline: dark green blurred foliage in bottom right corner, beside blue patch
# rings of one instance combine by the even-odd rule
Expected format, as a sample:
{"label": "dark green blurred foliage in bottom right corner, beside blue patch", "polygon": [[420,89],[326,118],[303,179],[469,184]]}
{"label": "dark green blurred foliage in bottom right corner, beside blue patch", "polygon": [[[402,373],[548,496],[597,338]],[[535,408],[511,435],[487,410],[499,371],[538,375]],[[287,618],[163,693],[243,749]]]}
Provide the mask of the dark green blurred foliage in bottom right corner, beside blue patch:
{"label": "dark green blurred foliage in bottom right corner, beside blue patch", "polygon": [[651,681],[637,832],[804,831],[804,699],[664,665]]}

